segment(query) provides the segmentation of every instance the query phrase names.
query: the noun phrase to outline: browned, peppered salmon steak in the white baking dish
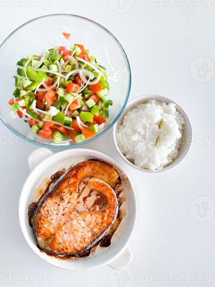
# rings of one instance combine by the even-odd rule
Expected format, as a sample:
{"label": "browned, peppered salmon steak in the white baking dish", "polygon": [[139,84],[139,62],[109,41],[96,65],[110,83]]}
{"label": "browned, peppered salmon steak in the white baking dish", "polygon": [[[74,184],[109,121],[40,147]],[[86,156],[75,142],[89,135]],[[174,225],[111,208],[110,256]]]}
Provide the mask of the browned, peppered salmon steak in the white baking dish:
{"label": "browned, peppered salmon steak in the white baking dish", "polygon": [[[106,204],[97,211],[76,210],[78,185],[90,177],[88,187],[99,191]],[[82,253],[98,242],[111,228],[118,213],[113,191],[118,179],[111,166],[88,160],[67,170],[39,201],[33,230],[37,244],[48,253]]]}

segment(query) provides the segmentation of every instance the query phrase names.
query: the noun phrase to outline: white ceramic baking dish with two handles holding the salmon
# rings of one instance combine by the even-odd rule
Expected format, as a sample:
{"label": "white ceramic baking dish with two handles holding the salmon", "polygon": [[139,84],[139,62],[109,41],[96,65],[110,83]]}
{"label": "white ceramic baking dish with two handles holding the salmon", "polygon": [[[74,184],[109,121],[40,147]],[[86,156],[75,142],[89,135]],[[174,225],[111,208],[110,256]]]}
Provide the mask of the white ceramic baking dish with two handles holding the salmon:
{"label": "white ceramic baking dish with two handles holding the salmon", "polygon": [[[127,177],[129,182],[126,184],[130,185],[126,192],[126,198],[128,204],[127,216],[124,217],[113,235],[111,245],[109,247],[99,247],[98,252],[90,254],[88,257],[80,259],[67,259],[60,260],[56,257],[47,255],[41,252],[37,247],[35,238],[32,232],[32,228],[28,223],[28,206],[35,198],[35,191],[43,188],[45,183],[50,179],[50,176],[55,172],[62,170],[63,168],[68,169],[71,164],[76,164],[87,159],[100,159],[104,162],[111,163],[118,167],[121,177]],[[61,151],[58,153],[52,153],[47,148],[38,148],[29,156],[28,164],[31,169],[31,173],[28,176],[23,186],[20,201],[19,201],[19,221],[23,235],[30,245],[32,250],[43,260],[66,270],[84,270],[91,269],[108,264],[114,269],[122,269],[126,267],[131,259],[132,253],[128,246],[128,241],[133,233],[136,217],[137,217],[137,200],[133,184],[123,168],[121,168],[115,160],[106,156],[98,151],[89,149],[70,149]],[[119,230],[118,230],[119,229]]]}

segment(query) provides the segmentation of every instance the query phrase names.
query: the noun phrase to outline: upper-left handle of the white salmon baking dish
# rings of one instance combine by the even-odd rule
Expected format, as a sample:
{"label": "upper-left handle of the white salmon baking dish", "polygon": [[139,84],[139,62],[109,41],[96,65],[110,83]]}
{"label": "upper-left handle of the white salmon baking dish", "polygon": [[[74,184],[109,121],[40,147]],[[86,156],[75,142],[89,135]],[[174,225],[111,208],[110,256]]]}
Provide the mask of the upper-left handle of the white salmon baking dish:
{"label": "upper-left handle of the white salmon baking dish", "polygon": [[37,148],[28,156],[28,166],[32,171],[42,160],[53,154],[48,148]]}

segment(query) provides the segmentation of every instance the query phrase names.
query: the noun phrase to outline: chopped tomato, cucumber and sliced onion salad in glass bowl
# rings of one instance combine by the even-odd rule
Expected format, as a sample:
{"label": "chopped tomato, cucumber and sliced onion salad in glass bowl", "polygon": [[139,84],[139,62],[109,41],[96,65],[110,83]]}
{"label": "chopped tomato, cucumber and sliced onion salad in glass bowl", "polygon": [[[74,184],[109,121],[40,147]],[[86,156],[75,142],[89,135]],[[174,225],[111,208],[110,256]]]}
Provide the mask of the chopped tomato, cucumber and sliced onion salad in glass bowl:
{"label": "chopped tomato, cucumber and sliced onion salad in glass bowl", "polygon": [[16,63],[13,98],[8,104],[51,145],[93,138],[109,117],[108,72],[81,44],[55,46]]}

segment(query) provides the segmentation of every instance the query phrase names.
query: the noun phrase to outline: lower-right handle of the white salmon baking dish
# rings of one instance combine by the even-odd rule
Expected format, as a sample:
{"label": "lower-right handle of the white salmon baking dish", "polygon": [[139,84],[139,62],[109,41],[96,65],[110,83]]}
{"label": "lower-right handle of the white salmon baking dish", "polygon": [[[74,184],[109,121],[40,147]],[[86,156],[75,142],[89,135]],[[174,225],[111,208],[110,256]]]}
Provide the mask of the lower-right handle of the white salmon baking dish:
{"label": "lower-right handle of the white salmon baking dish", "polygon": [[129,245],[126,245],[125,249],[107,265],[115,270],[121,270],[130,264],[132,257],[131,249]]}

